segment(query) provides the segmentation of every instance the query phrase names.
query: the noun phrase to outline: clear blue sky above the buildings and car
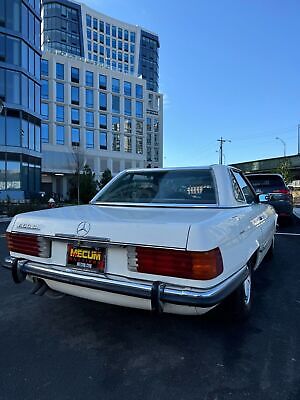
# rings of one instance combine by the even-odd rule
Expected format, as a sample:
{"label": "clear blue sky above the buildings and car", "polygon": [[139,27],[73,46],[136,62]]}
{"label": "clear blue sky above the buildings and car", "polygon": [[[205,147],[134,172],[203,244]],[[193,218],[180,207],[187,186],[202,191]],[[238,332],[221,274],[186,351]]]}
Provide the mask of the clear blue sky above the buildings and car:
{"label": "clear blue sky above the buildings and car", "polygon": [[297,153],[300,2],[85,0],[160,37],[164,166]]}

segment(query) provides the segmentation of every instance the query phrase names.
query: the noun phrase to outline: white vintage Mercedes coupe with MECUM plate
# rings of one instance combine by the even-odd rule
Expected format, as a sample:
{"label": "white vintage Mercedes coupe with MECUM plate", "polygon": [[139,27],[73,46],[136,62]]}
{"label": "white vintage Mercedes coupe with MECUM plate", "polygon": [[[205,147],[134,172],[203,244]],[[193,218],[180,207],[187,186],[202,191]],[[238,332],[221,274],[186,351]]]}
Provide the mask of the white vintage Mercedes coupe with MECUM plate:
{"label": "white vintage Mercedes coupe with MECUM plate", "polygon": [[276,220],[237,169],[128,170],[89,205],[17,215],[4,266],[40,295],[179,314],[223,303],[243,318]]}

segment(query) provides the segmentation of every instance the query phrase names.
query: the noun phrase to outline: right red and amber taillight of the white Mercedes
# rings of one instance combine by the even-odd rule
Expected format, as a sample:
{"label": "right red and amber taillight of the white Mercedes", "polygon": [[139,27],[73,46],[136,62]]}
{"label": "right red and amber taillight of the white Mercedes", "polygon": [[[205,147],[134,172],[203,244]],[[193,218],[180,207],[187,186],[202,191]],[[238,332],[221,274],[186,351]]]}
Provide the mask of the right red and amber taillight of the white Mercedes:
{"label": "right red and amber taillight of the white Mercedes", "polygon": [[186,279],[213,279],[223,271],[219,248],[203,251],[180,251],[137,247],[137,271]]}

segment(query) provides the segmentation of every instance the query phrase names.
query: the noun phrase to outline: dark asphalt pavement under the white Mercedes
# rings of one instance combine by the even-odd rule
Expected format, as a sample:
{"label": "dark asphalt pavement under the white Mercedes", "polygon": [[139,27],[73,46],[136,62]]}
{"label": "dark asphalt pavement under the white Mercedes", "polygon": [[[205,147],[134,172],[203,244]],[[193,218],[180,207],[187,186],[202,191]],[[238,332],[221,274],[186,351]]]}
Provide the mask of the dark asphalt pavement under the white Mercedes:
{"label": "dark asphalt pavement under the white Mercedes", "polygon": [[0,268],[0,400],[299,400],[299,241],[280,226],[239,324],[38,297]]}

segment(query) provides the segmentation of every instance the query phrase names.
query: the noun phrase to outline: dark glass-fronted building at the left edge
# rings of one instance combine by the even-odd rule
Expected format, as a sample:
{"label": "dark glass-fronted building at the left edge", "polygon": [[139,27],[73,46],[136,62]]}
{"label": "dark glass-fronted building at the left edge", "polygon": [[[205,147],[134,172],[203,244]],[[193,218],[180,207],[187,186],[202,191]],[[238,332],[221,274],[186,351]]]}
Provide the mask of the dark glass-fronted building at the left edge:
{"label": "dark glass-fronted building at the left edge", "polygon": [[0,0],[0,200],[40,190],[40,0]]}

